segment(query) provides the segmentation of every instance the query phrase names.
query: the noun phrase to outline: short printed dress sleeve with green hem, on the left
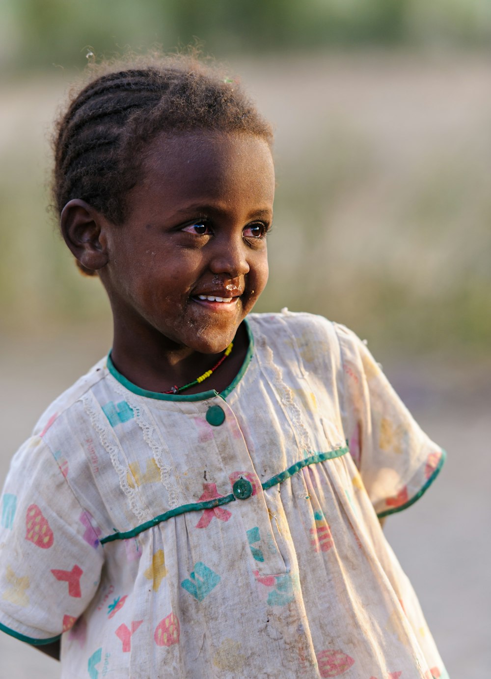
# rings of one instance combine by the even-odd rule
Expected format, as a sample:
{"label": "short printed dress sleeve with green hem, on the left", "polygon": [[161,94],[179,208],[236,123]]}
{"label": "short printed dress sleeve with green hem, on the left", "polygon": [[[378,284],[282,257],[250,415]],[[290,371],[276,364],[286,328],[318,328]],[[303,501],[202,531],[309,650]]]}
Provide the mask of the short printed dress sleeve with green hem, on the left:
{"label": "short printed dress sleeve with green hem, on the left", "polygon": [[35,436],[14,456],[0,496],[0,629],[33,645],[75,623],[102,568],[99,531],[64,472]]}

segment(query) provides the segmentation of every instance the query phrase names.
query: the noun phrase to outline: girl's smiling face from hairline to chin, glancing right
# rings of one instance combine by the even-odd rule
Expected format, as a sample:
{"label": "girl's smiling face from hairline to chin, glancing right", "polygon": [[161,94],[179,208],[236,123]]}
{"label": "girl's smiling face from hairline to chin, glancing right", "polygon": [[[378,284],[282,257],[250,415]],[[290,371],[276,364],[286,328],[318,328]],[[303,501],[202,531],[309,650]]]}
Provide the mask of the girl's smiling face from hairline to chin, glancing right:
{"label": "girl's smiling face from hairline to chin, glancing right", "polygon": [[250,134],[162,134],[142,177],[127,219],[106,231],[100,277],[115,327],[142,350],[157,340],[163,350],[218,353],[268,278],[269,147]]}

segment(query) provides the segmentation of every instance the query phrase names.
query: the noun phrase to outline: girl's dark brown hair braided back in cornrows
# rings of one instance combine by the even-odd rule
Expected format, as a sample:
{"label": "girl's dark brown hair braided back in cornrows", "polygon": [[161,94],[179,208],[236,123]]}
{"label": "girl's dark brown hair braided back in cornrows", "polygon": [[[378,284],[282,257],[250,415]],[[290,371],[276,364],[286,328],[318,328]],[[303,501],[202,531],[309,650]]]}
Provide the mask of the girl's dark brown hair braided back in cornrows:
{"label": "girl's dark brown hair braided back in cornrows", "polygon": [[237,82],[195,56],[134,57],[92,66],[91,75],[56,124],[52,193],[58,215],[80,198],[122,223],[142,151],[161,132],[249,133],[271,146],[271,126]]}

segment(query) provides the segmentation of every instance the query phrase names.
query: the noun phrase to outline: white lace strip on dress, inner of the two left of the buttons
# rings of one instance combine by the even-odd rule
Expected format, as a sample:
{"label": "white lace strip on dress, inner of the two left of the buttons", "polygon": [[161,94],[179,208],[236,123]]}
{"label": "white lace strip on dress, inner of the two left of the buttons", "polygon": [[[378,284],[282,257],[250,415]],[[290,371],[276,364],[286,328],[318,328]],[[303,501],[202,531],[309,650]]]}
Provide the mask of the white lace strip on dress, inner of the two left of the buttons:
{"label": "white lace strip on dress, inner of the two left of the buttons", "polygon": [[[131,392],[121,386],[114,378],[112,386],[118,394],[121,394],[133,410],[135,420],[142,430],[143,439],[146,445],[151,449],[155,464],[157,464],[160,470],[160,481],[168,494],[169,507],[173,509],[174,507],[179,507],[180,504],[186,504],[186,495],[178,483],[176,483],[178,474],[174,464],[172,464],[170,450],[165,446],[165,443],[161,438],[160,430],[155,424],[151,412],[141,403],[140,399],[136,399]],[[146,418],[143,416],[142,410],[144,411]]]}

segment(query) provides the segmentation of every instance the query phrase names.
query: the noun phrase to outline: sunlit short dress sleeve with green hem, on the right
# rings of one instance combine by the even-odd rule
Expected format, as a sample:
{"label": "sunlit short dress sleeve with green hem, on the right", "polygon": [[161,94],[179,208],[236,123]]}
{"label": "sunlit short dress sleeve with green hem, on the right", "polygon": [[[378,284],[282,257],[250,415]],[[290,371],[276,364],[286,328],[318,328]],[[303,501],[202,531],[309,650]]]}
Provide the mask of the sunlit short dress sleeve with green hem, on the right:
{"label": "sunlit short dress sleeve with green hem, on the right", "polygon": [[414,421],[364,342],[342,325],[336,333],[347,443],[376,513],[387,516],[423,495],[445,453]]}

